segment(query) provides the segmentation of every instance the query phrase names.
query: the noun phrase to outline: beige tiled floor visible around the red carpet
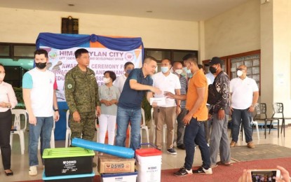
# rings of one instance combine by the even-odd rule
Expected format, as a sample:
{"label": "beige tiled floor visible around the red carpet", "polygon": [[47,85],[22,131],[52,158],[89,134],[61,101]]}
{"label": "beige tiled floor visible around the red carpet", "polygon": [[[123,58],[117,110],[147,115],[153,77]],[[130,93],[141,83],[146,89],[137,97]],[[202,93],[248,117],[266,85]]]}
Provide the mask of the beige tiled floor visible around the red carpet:
{"label": "beige tiled floor visible around the red carpet", "polygon": [[[150,141],[152,141],[152,131],[150,130]],[[229,136],[230,136],[230,130],[229,130]],[[280,137],[277,137],[277,131],[272,130],[271,134],[267,134],[266,139],[264,139],[264,132],[259,132],[260,139],[257,138],[257,133],[254,131],[253,134],[253,141],[255,144],[277,144],[280,146],[286,146],[288,148],[291,148],[291,127],[288,127],[286,129],[285,138],[283,135],[280,134]],[[28,175],[28,155],[27,155],[27,133],[25,134],[25,154],[20,154],[20,143],[19,143],[19,137],[15,135],[13,139],[13,150],[12,150],[12,169],[14,172],[13,176],[6,176],[4,174],[4,169],[2,166],[2,160],[0,159],[0,181],[29,181],[29,180],[35,180],[35,179],[41,179],[41,174],[43,172],[42,166],[40,165],[38,167],[39,174],[37,176],[29,176]],[[245,145],[244,141],[240,140],[238,141],[238,145]],[[56,147],[64,147],[65,141],[56,141],[55,142]],[[251,149],[250,149],[251,150]],[[177,155],[170,155],[168,154],[165,149],[163,150],[163,156],[162,156],[162,169],[174,169],[174,168],[180,168],[184,164],[184,156],[185,152],[177,149]],[[40,159],[40,156],[39,156]],[[96,158],[94,158],[96,160]],[[217,160],[219,161],[219,160]],[[194,158],[194,166],[201,165],[201,153],[197,149],[195,153]],[[97,174],[97,168],[94,168],[95,174]]]}

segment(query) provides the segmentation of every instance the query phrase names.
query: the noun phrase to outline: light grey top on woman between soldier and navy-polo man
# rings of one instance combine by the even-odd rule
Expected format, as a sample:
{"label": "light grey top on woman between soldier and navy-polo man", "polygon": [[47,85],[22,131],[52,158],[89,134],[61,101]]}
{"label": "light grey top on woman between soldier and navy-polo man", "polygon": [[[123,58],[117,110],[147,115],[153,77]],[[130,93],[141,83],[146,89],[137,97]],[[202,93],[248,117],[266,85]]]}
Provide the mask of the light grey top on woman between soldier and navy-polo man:
{"label": "light grey top on woman between soldier and navy-polo man", "polygon": [[[102,85],[99,87],[99,98],[100,101],[102,99],[110,101],[113,99],[119,100],[120,92],[117,87],[112,85],[111,87],[107,87],[106,85]],[[116,116],[117,113],[117,105],[113,104],[111,106],[105,106],[105,104],[101,104],[101,113]]]}

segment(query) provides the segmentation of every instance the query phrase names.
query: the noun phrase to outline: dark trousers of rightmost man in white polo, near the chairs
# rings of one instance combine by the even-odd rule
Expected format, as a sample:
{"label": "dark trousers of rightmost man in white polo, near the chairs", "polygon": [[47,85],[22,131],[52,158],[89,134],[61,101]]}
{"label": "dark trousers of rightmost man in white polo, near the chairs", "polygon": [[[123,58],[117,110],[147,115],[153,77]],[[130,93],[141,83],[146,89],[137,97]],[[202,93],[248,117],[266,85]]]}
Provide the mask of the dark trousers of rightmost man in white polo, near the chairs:
{"label": "dark trousers of rightmost man in white polo, near the chairs", "polygon": [[231,115],[231,133],[232,140],[238,141],[238,134],[241,123],[243,122],[243,130],[245,131],[245,141],[248,143],[252,141],[252,113],[248,109],[234,109]]}

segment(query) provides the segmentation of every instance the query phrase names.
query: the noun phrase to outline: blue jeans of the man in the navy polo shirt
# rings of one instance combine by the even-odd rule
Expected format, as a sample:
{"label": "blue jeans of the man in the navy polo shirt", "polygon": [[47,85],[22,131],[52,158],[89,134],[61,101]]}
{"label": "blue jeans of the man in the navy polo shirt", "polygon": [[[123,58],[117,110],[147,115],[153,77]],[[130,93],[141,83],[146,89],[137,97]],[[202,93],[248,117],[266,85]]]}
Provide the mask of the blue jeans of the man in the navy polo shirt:
{"label": "blue jeans of the man in the navy polo shirt", "polygon": [[117,108],[117,132],[115,138],[116,146],[126,146],[126,132],[130,123],[130,148],[137,149],[140,145],[140,125],[142,120],[141,109],[123,109]]}

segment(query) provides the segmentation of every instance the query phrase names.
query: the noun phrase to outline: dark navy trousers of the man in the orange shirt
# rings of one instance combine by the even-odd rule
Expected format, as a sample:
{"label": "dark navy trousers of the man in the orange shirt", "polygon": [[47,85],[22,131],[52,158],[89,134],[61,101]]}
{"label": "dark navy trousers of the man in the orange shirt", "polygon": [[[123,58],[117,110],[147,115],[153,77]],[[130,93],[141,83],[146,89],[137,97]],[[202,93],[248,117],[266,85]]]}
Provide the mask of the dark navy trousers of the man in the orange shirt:
{"label": "dark navy trousers of the man in the orange shirt", "polygon": [[186,125],[184,132],[184,145],[186,149],[184,167],[187,170],[190,170],[193,165],[195,144],[200,148],[203,167],[208,169],[210,167],[210,153],[205,140],[204,123],[192,118],[189,125]]}

